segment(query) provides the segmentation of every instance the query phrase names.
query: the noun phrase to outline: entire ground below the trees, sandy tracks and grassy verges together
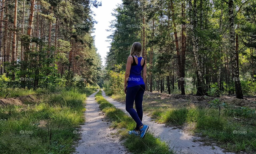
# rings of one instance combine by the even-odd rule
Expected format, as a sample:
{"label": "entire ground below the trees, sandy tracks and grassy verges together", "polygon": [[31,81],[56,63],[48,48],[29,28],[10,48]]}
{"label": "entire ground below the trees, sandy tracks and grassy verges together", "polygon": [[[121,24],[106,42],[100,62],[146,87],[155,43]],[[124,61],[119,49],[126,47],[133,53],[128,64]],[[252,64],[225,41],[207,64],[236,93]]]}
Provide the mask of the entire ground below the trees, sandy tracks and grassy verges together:
{"label": "entire ground below the trees, sandy tracks and grassy verges together", "polygon": [[[53,152],[61,151],[62,153],[66,153],[71,152],[74,149],[76,151],[75,153],[129,153],[134,152],[130,149],[132,148],[133,150],[136,150],[137,147],[135,147],[135,144],[137,145],[137,143],[141,142],[139,138],[134,138],[130,135],[127,136],[127,130],[130,130],[131,127],[133,127],[134,121],[130,118],[129,114],[125,110],[124,95],[112,96],[112,98],[110,98],[109,96],[105,95],[104,91],[102,91],[103,97],[109,103],[113,104],[114,107],[121,109],[124,112],[123,114],[126,113],[128,115],[126,117],[121,117],[120,122],[111,122],[109,118],[106,118],[107,113],[105,113],[105,111],[100,108],[100,105],[95,100],[95,94],[97,93],[95,91],[94,94],[92,94],[92,91],[73,91],[68,89],[67,91],[58,90],[55,93],[49,94],[47,91],[43,93],[42,92],[43,91],[38,91],[34,94],[28,92],[28,95],[25,95],[23,93],[17,93],[14,95],[16,96],[15,98],[0,99],[0,106],[3,109],[1,110],[0,119],[7,119],[6,121],[0,121],[0,124],[3,124],[0,125],[0,130],[3,132],[7,132],[7,130],[9,130],[8,133],[3,136],[4,140],[0,140],[0,142],[5,145],[3,146],[5,148],[8,147],[9,143],[15,142],[13,146],[9,146],[8,149],[2,149],[3,151],[12,151],[13,153],[16,153],[18,151],[20,153],[33,153],[47,149]],[[85,98],[85,96],[81,95],[83,93],[91,94],[89,97],[87,97],[85,101],[86,109],[84,109],[83,104],[83,99]],[[45,94],[47,94],[47,97],[45,97]],[[5,95],[2,96],[4,97]],[[251,113],[253,109],[255,111],[255,98],[246,98],[247,100],[239,100],[234,98],[233,96],[222,96],[221,98],[219,98],[221,101],[226,102],[227,104],[232,104],[233,106],[230,107],[228,110],[225,110],[222,107],[221,117],[219,118],[219,121],[216,121],[216,119],[218,119],[218,110],[210,109],[208,103],[210,100],[215,99],[213,97],[191,95],[181,96],[177,94],[168,95],[161,93],[145,92],[143,99],[143,123],[149,125],[150,129],[148,136],[146,136],[146,138],[144,138],[142,141],[152,141],[151,143],[149,143],[149,145],[156,145],[156,147],[161,146],[161,148],[157,150],[164,149],[166,151],[167,149],[168,151],[169,147],[169,153],[255,153],[256,120],[255,116],[250,115],[253,114]],[[247,101],[249,101],[249,103]],[[71,110],[68,105],[69,103],[62,104],[63,102],[79,103],[75,103],[74,105],[76,107],[73,108],[75,110]],[[61,106],[47,106],[43,108],[44,110],[42,110],[42,105],[45,104],[59,104]],[[33,108],[30,109],[31,113],[27,111],[28,105],[33,106]],[[10,108],[10,106],[14,106],[15,109]],[[245,111],[243,111],[244,109],[242,109],[241,113],[240,110],[233,109],[233,107],[240,109],[240,107],[242,106],[247,106],[248,108],[245,108]],[[48,108],[51,110],[49,110]],[[236,120],[233,116],[226,116],[226,112],[233,112],[233,110],[239,114],[246,113],[246,115],[235,116],[240,120]],[[37,115],[39,114],[39,111],[40,115]],[[45,116],[41,116],[41,114]],[[65,114],[65,116],[63,114]],[[72,114],[75,115],[75,117],[72,119],[77,120],[72,121],[72,119],[70,119],[71,117],[69,116]],[[114,112],[112,114],[114,119],[116,119],[117,115],[114,115]],[[192,116],[183,117],[183,115],[186,114],[190,114]],[[206,114],[206,116],[200,117],[201,114]],[[37,115],[36,119],[29,118],[26,120],[27,117],[33,117],[35,115]],[[54,118],[55,120],[51,120],[49,115],[53,115],[53,117],[56,116],[56,118]],[[200,121],[194,120],[198,117],[201,118],[201,125],[203,125],[203,128],[199,124]],[[83,119],[85,119],[85,123],[81,123]],[[123,119],[128,119],[128,121],[125,122],[125,120]],[[11,125],[10,127],[7,127],[9,121],[15,124],[18,122],[22,122],[22,127],[20,126],[17,128],[13,128]],[[32,126],[31,122],[33,124],[38,124],[38,126]],[[70,125],[68,127],[67,122]],[[79,123],[80,125],[83,125],[77,127]],[[214,123],[220,123],[221,125],[211,126]],[[126,125],[129,126],[125,128]],[[41,137],[40,135],[38,135],[40,131],[42,131],[44,134],[47,134],[47,132],[49,134],[49,130],[47,131],[46,126],[52,129],[51,131],[54,132],[53,137],[57,140],[59,139],[62,144],[58,143],[56,145],[52,145],[47,143],[47,146],[41,145],[46,144],[45,142],[51,140],[51,137],[46,135],[46,141],[40,143]],[[201,129],[198,129],[197,127],[200,127]],[[34,134],[26,136],[24,134],[20,134],[19,132],[17,133],[17,131],[20,130],[31,130],[34,132]],[[59,134],[60,130],[61,132],[63,132],[63,134]],[[230,131],[233,130],[246,130],[247,133],[230,133]],[[77,133],[74,134],[74,131]],[[10,138],[10,134],[15,135]],[[73,136],[71,137],[72,139],[67,139],[65,138],[65,135]],[[79,135],[81,137],[80,140]],[[3,142],[6,141],[7,138],[8,142]],[[17,138],[19,138],[19,140],[17,140]],[[37,145],[32,147],[27,145],[29,144],[31,139],[37,140]],[[78,147],[74,148],[72,147],[72,144],[77,143],[74,142],[75,140],[79,140],[79,145]],[[163,141],[164,143],[159,141]],[[18,142],[29,146],[29,148],[24,150]],[[131,142],[134,142],[134,145],[132,145]],[[127,144],[130,145],[128,145],[127,147]],[[20,148],[17,148],[17,146],[20,146]],[[149,149],[147,147],[148,143],[144,146],[145,148],[141,149],[141,151]],[[63,149],[63,147],[65,147],[65,150]],[[151,149],[152,148],[150,148],[150,150]],[[135,153],[141,152],[135,151]]]}

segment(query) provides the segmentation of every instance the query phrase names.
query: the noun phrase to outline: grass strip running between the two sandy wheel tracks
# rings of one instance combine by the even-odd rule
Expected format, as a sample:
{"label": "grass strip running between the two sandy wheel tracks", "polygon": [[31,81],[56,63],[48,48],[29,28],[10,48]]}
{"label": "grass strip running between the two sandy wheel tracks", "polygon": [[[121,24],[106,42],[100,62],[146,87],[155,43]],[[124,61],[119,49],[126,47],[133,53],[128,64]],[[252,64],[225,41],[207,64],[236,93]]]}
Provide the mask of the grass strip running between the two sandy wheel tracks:
{"label": "grass strip running between the two sandy wheel tracks", "polygon": [[[101,95],[99,91],[96,95],[96,101],[100,104],[100,109],[105,113],[106,118],[111,121],[111,126],[119,128],[122,139],[125,139],[124,146],[132,153],[174,153],[169,150],[169,145],[162,142],[159,138],[155,138],[153,134],[148,132],[143,139],[128,135],[128,130],[133,130],[136,126],[134,120],[127,116],[121,109],[114,107]],[[125,130],[121,130],[125,128]]]}

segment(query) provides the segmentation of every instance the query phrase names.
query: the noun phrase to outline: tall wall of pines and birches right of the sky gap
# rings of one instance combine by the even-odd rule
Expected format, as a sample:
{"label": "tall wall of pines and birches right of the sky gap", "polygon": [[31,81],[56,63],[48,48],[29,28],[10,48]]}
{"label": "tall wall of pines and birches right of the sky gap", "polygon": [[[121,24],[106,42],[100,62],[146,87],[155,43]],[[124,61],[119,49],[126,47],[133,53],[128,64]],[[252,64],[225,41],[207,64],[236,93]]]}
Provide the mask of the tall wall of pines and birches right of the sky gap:
{"label": "tall wall of pines and birches right of the sky gap", "polygon": [[123,0],[106,69],[123,74],[132,43],[141,42],[148,91],[256,95],[255,13],[255,0]]}

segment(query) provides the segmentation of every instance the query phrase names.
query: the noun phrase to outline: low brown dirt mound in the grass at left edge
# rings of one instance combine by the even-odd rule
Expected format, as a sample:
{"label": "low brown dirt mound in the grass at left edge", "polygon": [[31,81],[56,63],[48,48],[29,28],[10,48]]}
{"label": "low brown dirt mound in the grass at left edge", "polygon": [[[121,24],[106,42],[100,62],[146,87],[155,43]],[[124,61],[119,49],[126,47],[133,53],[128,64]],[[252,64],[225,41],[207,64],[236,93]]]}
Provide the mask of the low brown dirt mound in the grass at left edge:
{"label": "low brown dirt mound in the grass at left edge", "polygon": [[0,106],[7,105],[21,105],[24,106],[27,103],[35,103],[36,99],[33,95],[18,96],[16,98],[1,98]]}

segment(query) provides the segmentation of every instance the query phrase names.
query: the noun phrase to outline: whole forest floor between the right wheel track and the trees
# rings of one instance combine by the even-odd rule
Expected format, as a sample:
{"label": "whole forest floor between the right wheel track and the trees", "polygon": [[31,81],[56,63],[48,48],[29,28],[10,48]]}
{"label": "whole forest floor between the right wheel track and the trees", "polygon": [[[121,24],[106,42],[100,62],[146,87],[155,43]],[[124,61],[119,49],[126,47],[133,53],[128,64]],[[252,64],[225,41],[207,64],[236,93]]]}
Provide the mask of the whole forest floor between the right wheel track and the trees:
{"label": "whole forest floor between the right wheel track and the trees", "polygon": [[[125,95],[111,97],[125,106]],[[209,102],[214,99],[220,100],[219,119],[218,109],[209,107]],[[162,127],[169,128],[170,132],[185,133],[201,145],[219,146],[225,152],[255,153],[255,97],[241,100],[233,96],[214,98],[145,92],[143,113]]]}

